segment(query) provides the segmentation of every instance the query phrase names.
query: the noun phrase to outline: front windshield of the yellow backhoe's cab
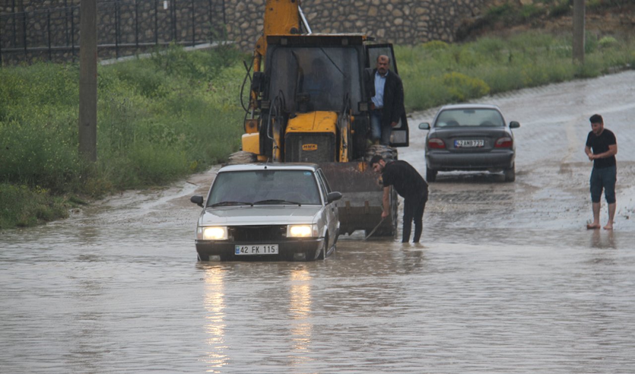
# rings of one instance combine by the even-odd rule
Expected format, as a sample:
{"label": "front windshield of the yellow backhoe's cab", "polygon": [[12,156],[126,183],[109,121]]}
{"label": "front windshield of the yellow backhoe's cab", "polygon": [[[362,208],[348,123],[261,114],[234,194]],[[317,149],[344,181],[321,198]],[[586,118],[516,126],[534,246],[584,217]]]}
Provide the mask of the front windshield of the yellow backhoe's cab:
{"label": "front windshield of the yellow backhoe's cab", "polygon": [[358,52],[355,48],[277,47],[269,56],[269,100],[285,112],[342,110],[345,95],[356,109],[361,101]]}

